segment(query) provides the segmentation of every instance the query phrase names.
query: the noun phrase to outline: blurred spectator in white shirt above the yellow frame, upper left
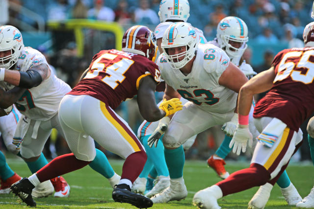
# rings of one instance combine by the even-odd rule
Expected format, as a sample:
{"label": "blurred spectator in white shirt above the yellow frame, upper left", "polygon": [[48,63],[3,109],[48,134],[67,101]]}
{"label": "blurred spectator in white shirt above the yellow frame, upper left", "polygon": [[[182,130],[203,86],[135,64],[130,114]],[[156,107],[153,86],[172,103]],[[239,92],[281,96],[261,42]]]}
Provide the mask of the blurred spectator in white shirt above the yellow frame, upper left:
{"label": "blurred spectator in white shirt above the yellow frame, upper left", "polygon": [[94,7],[88,10],[89,19],[102,20],[107,22],[114,21],[114,12],[111,8],[105,6],[105,0],[94,0]]}

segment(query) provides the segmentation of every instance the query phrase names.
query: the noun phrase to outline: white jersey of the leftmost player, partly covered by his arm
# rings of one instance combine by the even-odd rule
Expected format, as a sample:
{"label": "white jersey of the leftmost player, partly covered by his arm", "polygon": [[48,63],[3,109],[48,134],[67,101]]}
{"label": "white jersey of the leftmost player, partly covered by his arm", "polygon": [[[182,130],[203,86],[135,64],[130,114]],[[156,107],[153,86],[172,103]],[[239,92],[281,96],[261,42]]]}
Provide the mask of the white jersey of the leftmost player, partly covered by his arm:
{"label": "white jersey of the leftmost player, partly covered by his arm", "polygon": [[[17,62],[17,70],[26,72],[31,66],[40,64],[47,64],[49,67],[42,53],[31,47],[24,47]],[[0,82],[0,87],[7,91],[14,86]],[[70,91],[68,84],[51,73],[40,85],[26,90],[15,105],[21,114],[30,119],[48,120],[58,112],[62,97]]]}

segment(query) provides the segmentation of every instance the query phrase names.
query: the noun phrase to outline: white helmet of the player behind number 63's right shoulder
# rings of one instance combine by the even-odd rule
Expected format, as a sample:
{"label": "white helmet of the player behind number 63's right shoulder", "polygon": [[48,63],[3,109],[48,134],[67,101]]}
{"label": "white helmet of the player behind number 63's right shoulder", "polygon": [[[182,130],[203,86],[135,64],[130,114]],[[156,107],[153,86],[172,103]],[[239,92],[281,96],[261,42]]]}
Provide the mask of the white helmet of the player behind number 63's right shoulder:
{"label": "white helmet of the player behind number 63's right shoulder", "polygon": [[[222,19],[217,26],[217,41],[229,57],[242,56],[247,48],[246,42],[249,40],[247,36],[248,29],[246,23],[237,17],[226,17]],[[239,48],[232,46],[229,41],[242,43]],[[225,47],[225,48],[224,48]]]}

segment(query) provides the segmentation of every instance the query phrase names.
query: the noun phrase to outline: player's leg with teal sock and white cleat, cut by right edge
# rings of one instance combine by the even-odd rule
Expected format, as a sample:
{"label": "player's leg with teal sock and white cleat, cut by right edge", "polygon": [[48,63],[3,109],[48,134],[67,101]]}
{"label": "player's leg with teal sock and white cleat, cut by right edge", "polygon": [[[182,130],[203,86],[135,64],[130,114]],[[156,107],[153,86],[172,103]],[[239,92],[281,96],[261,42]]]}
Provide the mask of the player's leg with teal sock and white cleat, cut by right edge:
{"label": "player's leg with teal sock and white cleat, cut by right edge", "polygon": [[[308,122],[307,126],[308,131],[308,141],[310,145],[311,158],[314,163],[314,117]],[[314,187],[311,189],[310,194],[303,198],[302,201],[296,204],[296,207],[299,208],[314,208]]]}

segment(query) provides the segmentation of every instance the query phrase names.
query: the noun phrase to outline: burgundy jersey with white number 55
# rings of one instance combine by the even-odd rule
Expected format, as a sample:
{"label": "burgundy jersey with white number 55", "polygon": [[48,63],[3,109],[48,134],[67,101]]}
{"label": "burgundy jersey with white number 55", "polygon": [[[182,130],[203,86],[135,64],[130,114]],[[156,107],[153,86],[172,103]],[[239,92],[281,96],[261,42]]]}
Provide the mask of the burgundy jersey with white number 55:
{"label": "burgundy jersey with white number 55", "polygon": [[272,66],[273,86],[256,104],[254,117],[276,117],[298,131],[314,111],[314,47],[282,50]]}

